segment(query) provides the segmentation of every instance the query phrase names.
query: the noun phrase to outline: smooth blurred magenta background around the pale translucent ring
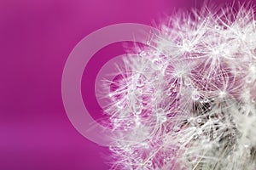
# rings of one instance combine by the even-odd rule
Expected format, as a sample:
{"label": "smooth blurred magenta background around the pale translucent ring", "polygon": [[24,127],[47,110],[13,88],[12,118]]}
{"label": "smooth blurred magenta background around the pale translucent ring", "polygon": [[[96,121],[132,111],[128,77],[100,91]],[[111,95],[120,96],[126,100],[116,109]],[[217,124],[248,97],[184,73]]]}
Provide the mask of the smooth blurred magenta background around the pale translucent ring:
{"label": "smooth blurred magenta background around the pale translucent ring", "polygon": [[[61,74],[68,54],[82,38],[104,26],[124,22],[151,25],[173,8],[202,4],[201,0],[195,2],[0,1],[0,169],[108,169],[104,159],[108,149],[84,139],[64,111]],[[214,1],[224,2],[228,1]],[[115,45],[102,49],[95,57],[107,56],[108,60],[122,51],[120,45]],[[85,74],[86,69],[99,68],[89,65]],[[85,77],[93,85],[96,77]],[[86,86],[93,87],[91,83]],[[96,99],[87,105],[92,116],[99,117]]]}

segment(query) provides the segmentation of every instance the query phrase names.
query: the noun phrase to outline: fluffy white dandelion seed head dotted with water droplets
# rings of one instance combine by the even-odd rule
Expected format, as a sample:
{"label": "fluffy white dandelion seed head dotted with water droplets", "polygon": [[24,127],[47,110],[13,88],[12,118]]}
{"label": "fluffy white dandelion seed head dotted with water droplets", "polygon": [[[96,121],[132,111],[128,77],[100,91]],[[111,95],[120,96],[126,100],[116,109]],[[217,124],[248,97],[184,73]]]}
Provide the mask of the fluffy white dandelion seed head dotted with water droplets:
{"label": "fluffy white dandelion seed head dotted with water droplets", "polygon": [[256,169],[253,8],[208,8],[159,26],[109,80],[112,169]]}

